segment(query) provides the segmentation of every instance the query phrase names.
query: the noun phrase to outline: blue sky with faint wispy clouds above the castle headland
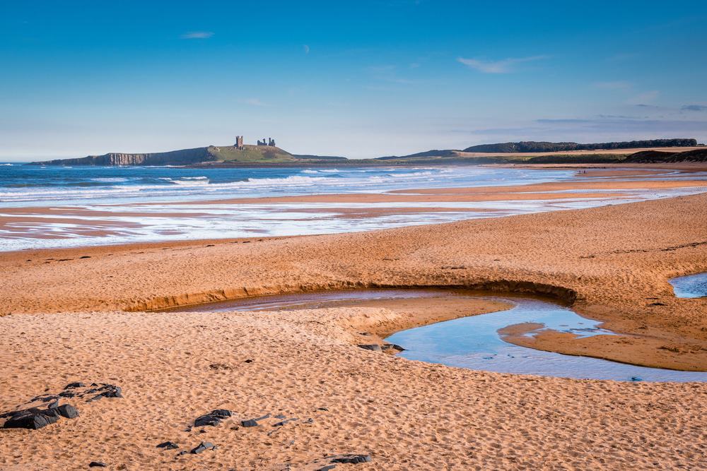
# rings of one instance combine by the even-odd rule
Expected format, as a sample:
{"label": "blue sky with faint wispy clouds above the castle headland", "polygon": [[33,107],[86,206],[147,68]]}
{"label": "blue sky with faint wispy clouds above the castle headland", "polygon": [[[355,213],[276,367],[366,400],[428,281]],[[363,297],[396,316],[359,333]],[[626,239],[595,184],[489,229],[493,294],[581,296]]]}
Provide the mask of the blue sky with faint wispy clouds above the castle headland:
{"label": "blue sky with faint wispy clouds above the castle headland", "polygon": [[0,160],[707,141],[703,1],[0,0]]}

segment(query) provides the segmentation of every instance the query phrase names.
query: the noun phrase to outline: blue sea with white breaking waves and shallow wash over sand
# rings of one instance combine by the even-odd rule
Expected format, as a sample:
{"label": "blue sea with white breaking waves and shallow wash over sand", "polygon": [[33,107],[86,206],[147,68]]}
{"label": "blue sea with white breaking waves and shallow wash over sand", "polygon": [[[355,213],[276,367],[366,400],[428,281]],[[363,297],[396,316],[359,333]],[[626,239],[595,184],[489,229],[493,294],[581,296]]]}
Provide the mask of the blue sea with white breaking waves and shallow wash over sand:
{"label": "blue sea with white breaking waves and shallow wash over sand", "polygon": [[[690,178],[695,178],[691,174]],[[219,203],[230,198],[568,181],[574,169],[508,167],[54,167],[0,163],[0,251],[182,239],[325,234],[585,208],[705,189],[625,197],[473,203]],[[674,178],[682,178],[676,175]],[[701,178],[707,178],[701,175]],[[209,203],[206,203],[209,201]]]}

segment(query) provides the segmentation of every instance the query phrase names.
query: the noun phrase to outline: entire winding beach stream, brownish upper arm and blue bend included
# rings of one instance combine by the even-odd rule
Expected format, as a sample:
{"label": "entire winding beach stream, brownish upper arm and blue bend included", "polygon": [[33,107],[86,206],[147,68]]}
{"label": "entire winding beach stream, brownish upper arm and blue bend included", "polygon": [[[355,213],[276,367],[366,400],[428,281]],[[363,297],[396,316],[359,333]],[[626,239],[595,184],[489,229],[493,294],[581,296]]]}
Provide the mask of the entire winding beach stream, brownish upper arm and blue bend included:
{"label": "entire winding beach stream, brownish upper arm and blue bend included", "polygon": [[[544,352],[506,342],[498,329],[518,323],[540,323],[542,328],[570,332],[581,337],[614,335],[600,322],[579,316],[566,306],[534,297],[512,294],[477,295],[457,290],[348,290],[283,294],[236,299],[228,302],[186,306],[179,311],[278,311],[356,306],[376,300],[454,297],[494,299],[513,304],[511,309],[443,321],[402,330],[386,338],[406,350],[398,355],[411,360],[500,373],[559,376],[563,378],[612,379],[617,381],[707,381],[707,372],[646,368],[591,357]],[[172,309],[174,310],[174,309]]]}

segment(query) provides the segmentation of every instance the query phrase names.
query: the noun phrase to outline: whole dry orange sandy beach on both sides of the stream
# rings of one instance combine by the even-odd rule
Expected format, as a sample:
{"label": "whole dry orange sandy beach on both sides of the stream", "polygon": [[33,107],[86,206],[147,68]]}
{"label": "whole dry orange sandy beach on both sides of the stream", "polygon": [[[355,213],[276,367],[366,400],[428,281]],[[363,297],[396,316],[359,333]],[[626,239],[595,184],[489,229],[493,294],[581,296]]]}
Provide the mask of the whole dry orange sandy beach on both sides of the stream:
{"label": "whole dry orange sandy beach on both sides of the stream", "polygon": [[[526,292],[619,335],[514,342],[706,371],[707,302],[676,298],[667,282],[707,270],[706,209],[697,195],[351,234],[1,254],[1,410],[72,381],[115,384],[124,397],[70,399],[78,419],[1,430],[0,467],[317,470],[342,453],[372,460],[337,469],[705,467],[704,383],[493,374],[356,347],[362,332],[382,338],[502,304],[144,311],[356,287]],[[185,431],[219,408],[233,417]],[[276,415],[298,420],[274,427]],[[177,456],[156,448],[164,441],[218,448]]]}

